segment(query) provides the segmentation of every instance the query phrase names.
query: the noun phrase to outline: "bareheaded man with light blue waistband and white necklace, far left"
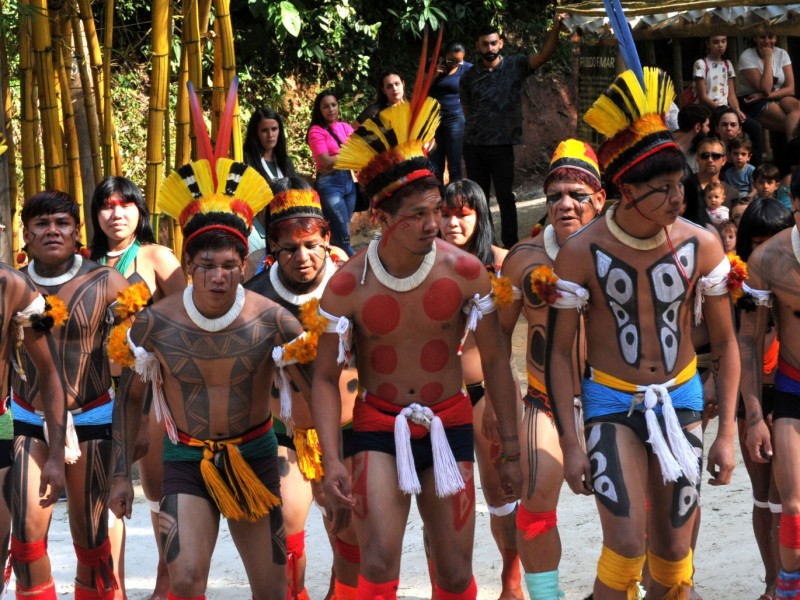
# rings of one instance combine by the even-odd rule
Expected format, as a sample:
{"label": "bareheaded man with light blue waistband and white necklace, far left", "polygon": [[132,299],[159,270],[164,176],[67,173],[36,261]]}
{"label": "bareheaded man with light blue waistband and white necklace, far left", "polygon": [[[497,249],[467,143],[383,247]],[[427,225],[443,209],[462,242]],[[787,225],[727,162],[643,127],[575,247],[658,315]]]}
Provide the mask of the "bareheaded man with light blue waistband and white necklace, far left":
{"label": "bareheaded man with light blue waistband and white necklace, far left", "polygon": [[[118,583],[112,573],[106,512],[114,398],[103,346],[114,321],[112,305],[128,282],[114,269],[76,252],[80,208],[69,195],[48,191],[32,196],[22,208],[22,223],[32,257],[24,272],[40,293],[58,295],[68,313],[63,326],[53,330],[52,351],[70,414],[64,415],[64,405],[52,405],[31,364],[33,357],[23,355],[20,364],[26,377],[17,373],[11,378],[15,437],[11,554],[17,595],[56,597],[47,556],[52,506],[41,501],[33,482],[39,481],[45,461],[58,456],[67,462],[69,522],[78,556],[75,597],[107,600],[114,597]],[[62,423],[74,422],[74,427],[67,423],[66,449],[61,435],[53,433],[51,418],[56,430]]]}

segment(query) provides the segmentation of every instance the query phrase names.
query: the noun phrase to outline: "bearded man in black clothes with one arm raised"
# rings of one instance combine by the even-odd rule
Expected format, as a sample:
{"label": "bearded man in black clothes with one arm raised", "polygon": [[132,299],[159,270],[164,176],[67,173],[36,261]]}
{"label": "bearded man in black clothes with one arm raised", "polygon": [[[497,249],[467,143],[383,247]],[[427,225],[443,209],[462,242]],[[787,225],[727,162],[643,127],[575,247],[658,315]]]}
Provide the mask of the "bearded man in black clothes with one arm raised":
{"label": "bearded man in black clothes with one arm raised", "polygon": [[487,199],[494,182],[500,237],[507,249],[519,240],[513,189],[514,146],[522,143],[522,83],[556,51],[562,19],[563,15],[553,18],[542,49],[527,56],[500,56],[503,40],[497,27],[483,28],[475,43],[481,60],[461,78],[467,176],[481,186]]}

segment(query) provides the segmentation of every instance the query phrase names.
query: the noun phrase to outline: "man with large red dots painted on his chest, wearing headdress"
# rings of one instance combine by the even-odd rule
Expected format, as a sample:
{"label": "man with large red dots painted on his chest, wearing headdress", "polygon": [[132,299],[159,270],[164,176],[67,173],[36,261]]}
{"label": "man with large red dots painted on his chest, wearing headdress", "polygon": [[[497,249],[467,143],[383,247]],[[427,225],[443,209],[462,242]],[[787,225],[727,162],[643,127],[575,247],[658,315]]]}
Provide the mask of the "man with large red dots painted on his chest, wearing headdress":
{"label": "man with large red dots painted on his chest, wearing headdress", "polygon": [[[359,600],[397,597],[411,494],[430,539],[436,597],[477,597],[472,406],[459,358],[469,329],[498,415],[507,502],[517,498],[521,479],[516,391],[489,275],[475,256],[436,237],[442,199],[423,146],[438,125],[438,104],[425,99],[421,79],[410,103],[368,120],[337,160],[337,168],[359,171],[383,230],[323,294],[320,314],[328,325],[312,400],[334,530],[355,517]],[[340,372],[351,336],[361,386],[352,486],[339,458],[338,426]]]}

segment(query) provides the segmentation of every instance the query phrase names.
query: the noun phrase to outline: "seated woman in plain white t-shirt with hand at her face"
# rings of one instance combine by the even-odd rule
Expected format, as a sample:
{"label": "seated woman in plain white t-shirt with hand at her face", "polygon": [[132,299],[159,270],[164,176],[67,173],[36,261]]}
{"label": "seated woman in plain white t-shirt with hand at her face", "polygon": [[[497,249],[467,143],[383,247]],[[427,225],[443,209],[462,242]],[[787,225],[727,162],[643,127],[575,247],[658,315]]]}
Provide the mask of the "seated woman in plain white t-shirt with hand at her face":
{"label": "seated woman in plain white t-shirt with hand at her face", "polygon": [[773,33],[755,36],[756,45],[739,57],[739,102],[749,117],[770,131],[791,138],[800,123],[800,101],[794,97],[794,73],[789,53],[776,48]]}

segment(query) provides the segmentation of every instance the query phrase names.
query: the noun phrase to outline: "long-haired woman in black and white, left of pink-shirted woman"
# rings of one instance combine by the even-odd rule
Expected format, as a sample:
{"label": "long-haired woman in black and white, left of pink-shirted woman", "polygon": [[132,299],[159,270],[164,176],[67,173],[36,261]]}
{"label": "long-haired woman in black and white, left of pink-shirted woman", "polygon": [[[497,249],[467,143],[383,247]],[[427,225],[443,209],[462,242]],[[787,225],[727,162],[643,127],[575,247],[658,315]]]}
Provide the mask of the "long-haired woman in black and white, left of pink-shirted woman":
{"label": "long-haired woman in black and white, left of pink-shirted woman", "polygon": [[[259,108],[250,117],[243,150],[245,164],[261,173],[267,183],[282,177],[297,177],[286,150],[283,120],[271,108]],[[269,212],[264,209],[253,219],[253,229],[247,238],[250,252],[266,247],[268,216]]]}

